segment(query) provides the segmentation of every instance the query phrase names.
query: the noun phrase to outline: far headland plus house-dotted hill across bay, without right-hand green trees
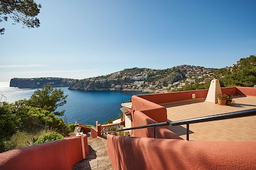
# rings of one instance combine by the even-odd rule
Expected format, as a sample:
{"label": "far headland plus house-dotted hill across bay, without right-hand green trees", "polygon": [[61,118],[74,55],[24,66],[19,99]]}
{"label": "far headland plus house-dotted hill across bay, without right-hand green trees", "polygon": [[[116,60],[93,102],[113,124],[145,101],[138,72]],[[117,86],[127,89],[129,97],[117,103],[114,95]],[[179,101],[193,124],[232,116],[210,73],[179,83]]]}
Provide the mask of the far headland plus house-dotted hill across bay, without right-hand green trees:
{"label": "far headland plus house-dotted hill across bay, without right-hand green trees", "polygon": [[211,77],[214,69],[200,66],[177,66],[169,69],[134,67],[105,76],[73,80],[67,78],[13,78],[10,87],[42,88],[45,83],[52,87],[68,86],[70,90],[83,91],[144,91],[157,92],[176,85],[178,82],[194,82],[196,78]]}

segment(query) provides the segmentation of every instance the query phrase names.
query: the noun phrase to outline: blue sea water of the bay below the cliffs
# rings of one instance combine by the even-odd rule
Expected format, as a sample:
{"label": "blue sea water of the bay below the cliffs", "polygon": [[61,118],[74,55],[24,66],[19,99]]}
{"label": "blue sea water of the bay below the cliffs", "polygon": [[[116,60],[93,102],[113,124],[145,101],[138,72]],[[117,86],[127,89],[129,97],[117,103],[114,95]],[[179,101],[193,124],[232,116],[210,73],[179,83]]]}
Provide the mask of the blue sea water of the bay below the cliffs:
{"label": "blue sea water of the bay below the cliffs", "polygon": [[[13,103],[20,99],[29,99],[36,89],[19,89],[9,87],[10,82],[0,82],[0,101]],[[122,91],[79,91],[68,90],[68,87],[57,87],[68,95],[67,103],[59,106],[56,111],[65,110],[63,118],[68,124],[79,122],[81,124],[100,124],[111,118],[118,117],[121,104],[131,101],[131,96],[145,94],[145,92],[122,92]]]}

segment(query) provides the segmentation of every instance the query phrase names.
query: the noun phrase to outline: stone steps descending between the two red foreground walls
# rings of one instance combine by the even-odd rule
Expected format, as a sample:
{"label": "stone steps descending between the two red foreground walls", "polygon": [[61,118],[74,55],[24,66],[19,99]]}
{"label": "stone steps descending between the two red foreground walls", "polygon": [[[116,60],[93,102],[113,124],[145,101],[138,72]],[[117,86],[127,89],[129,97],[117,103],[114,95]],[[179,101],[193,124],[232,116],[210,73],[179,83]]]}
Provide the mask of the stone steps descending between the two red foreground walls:
{"label": "stone steps descending between the two red foreground walls", "polygon": [[88,135],[89,155],[74,165],[73,170],[113,169],[107,153],[107,141],[104,138],[92,138]]}

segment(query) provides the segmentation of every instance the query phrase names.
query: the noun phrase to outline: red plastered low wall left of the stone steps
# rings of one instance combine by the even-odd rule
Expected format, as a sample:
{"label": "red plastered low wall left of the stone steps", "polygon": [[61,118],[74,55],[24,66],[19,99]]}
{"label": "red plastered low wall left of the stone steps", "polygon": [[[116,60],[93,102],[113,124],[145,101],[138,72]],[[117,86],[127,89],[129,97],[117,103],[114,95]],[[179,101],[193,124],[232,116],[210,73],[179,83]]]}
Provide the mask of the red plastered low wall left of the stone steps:
{"label": "red plastered low wall left of the stone steps", "polygon": [[[84,151],[88,155],[87,136],[83,134]],[[67,138],[40,145],[0,153],[0,169],[73,169],[83,160],[81,137]]]}

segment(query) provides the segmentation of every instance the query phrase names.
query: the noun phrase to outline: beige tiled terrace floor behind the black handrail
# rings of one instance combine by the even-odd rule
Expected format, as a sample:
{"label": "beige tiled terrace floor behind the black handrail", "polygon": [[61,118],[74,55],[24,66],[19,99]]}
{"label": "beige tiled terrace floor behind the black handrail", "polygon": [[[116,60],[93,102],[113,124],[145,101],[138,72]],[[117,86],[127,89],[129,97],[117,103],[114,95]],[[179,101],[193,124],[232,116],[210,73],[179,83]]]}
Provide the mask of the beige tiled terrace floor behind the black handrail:
{"label": "beige tiled terrace floor behind the black handrail", "polygon": [[[221,106],[204,100],[164,104],[170,122],[256,108],[255,96],[235,96],[234,106]],[[186,139],[186,125],[169,126]],[[256,116],[189,124],[189,141],[256,141]]]}

